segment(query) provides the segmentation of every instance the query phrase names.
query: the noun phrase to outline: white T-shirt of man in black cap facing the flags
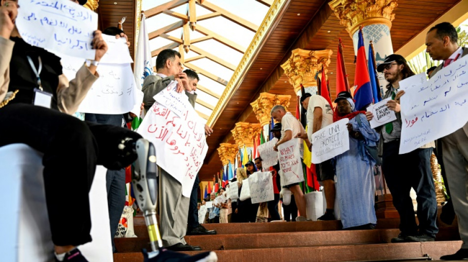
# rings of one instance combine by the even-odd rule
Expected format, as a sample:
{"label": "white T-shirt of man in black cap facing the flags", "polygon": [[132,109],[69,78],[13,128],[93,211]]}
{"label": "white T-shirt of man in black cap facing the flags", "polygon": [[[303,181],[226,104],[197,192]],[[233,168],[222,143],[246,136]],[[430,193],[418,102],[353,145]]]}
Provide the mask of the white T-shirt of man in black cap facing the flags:
{"label": "white T-shirt of man in black cap facing the flags", "polygon": [[314,110],[316,107],[322,109],[322,125],[320,128],[324,128],[333,123],[333,111],[330,103],[328,103],[328,101],[321,95],[312,95],[309,98],[309,104],[307,106],[307,137],[309,138],[309,141],[312,141]]}

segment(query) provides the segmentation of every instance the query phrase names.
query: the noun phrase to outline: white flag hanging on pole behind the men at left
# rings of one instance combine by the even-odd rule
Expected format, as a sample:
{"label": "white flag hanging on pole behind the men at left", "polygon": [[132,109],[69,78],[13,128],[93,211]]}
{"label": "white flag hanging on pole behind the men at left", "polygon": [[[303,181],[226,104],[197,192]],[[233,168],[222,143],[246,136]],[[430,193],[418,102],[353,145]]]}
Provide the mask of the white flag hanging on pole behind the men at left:
{"label": "white flag hanging on pole behind the men at left", "polygon": [[[151,50],[149,46],[148,38],[148,29],[146,28],[146,17],[144,13],[141,13],[141,22],[140,28],[138,29],[138,40],[135,51],[135,60],[134,60],[134,77],[136,82],[136,88],[141,90],[143,87],[143,81],[145,77],[153,74],[153,58],[151,57]],[[141,97],[143,98],[143,97]],[[137,101],[142,101],[137,99]],[[142,121],[143,116],[137,112],[140,112],[141,104],[135,105],[135,108],[132,110],[137,117],[134,118],[132,122],[132,128],[135,130],[138,128]],[[143,114],[143,112],[141,112]]]}

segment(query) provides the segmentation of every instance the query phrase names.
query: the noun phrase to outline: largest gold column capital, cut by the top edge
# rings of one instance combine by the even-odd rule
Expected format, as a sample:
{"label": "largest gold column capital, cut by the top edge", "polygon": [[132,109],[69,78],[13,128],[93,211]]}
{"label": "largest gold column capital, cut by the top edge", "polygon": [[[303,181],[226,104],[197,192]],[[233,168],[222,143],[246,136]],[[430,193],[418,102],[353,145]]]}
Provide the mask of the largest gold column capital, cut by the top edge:
{"label": "largest gold column capital, cut by the top edge", "polygon": [[336,17],[353,37],[360,26],[385,24],[392,28],[397,0],[332,0],[328,3]]}

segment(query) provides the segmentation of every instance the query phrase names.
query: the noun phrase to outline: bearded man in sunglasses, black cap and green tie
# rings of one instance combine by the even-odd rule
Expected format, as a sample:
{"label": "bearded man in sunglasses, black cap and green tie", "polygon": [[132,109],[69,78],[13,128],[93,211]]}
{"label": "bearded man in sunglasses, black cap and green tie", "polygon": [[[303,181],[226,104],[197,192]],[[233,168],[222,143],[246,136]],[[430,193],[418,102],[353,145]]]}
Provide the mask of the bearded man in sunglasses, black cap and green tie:
{"label": "bearded man in sunglasses, black cap and green tie", "polygon": [[[399,90],[400,81],[414,73],[400,55],[390,55],[377,66],[378,72],[383,72],[388,81],[384,99],[391,98],[387,107],[395,111],[397,119],[385,125],[376,127],[380,133],[379,155],[382,156],[382,172],[385,175],[388,188],[392,193],[393,204],[400,214],[400,230],[398,237],[392,242],[425,242],[434,241],[438,232],[435,220],[437,218],[437,202],[431,171],[430,159],[434,142],[428,143],[406,154],[399,154],[401,137],[401,108]],[[371,112],[366,112],[368,120],[373,118]],[[418,203],[419,227],[414,217],[414,209],[409,192],[411,187],[416,191]],[[418,231],[419,229],[419,231]]]}

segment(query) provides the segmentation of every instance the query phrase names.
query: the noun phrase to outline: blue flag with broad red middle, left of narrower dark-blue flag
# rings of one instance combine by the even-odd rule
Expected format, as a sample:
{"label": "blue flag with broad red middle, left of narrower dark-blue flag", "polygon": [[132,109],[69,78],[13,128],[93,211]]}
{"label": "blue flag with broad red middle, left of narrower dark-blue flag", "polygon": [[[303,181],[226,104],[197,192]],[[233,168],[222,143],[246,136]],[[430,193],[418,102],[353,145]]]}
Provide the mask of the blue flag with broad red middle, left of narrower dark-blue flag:
{"label": "blue flag with broad red middle, left of narrower dark-blue flag", "polygon": [[358,55],[356,58],[356,71],[354,74],[354,101],[356,110],[366,110],[366,106],[372,103],[372,87],[370,86],[369,70],[366,62],[366,48],[364,47],[363,30],[359,29]]}

